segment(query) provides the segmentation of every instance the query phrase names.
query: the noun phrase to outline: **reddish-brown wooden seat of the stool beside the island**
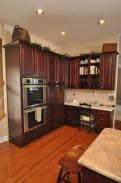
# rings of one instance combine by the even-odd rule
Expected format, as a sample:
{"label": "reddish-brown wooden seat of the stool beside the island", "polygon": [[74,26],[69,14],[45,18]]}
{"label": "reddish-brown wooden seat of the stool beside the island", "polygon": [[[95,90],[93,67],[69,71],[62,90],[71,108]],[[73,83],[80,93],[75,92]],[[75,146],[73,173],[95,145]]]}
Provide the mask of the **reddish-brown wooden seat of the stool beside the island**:
{"label": "reddish-brown wooden seat of the stool beside the island", "polygon": [[82,146],[74,146],[60,161],[59,165],[65,171],[71,173],[81,172],[81,165],[78,164],[78,159],[84,153]]}

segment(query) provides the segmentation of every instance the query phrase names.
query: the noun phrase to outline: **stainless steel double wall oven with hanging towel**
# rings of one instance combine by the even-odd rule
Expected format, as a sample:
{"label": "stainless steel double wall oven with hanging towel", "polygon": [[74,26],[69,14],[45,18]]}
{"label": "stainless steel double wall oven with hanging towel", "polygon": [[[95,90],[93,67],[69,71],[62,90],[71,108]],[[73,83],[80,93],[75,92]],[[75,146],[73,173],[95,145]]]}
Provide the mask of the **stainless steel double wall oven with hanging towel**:
{"label": "stainless steel double wall oven with hanging towel", "polygon": [[45,79],[22,78],[24,132],[46,124]]}

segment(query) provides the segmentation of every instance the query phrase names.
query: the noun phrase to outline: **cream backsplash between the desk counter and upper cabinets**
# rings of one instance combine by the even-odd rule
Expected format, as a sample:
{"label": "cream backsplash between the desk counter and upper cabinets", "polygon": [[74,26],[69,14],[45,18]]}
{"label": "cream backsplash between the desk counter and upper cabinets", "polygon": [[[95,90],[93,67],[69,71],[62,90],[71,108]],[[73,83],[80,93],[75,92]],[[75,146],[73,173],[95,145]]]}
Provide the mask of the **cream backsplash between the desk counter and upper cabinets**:
{"label": "cream backsplash between the desk counter and upper cabinets", "polygon": [[115,105],[116,94],[111,90],[65,89],[65,102],[78,102]]}

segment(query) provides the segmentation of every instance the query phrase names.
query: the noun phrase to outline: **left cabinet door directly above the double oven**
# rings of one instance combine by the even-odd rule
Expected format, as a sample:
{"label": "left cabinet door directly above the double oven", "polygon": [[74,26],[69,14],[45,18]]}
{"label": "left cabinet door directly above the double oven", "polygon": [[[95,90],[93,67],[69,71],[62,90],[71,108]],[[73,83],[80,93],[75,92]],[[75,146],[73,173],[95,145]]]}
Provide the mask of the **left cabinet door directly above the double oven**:
{"label": "left cabinet door directly above the double oven", "polygon": [[35,50],[21,45],[20,47],[21,75],[24,77],[35,76]]}

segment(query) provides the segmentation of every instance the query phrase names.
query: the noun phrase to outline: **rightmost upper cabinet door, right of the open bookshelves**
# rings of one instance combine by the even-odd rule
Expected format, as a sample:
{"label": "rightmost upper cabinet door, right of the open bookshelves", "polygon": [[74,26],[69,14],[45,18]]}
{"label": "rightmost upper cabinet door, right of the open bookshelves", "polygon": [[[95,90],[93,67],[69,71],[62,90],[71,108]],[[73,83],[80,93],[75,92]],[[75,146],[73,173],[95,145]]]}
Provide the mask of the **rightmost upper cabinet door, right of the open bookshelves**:
{"label": "rightmost upper cabinet door, right of the open bookshelves", "polygon": [[100,88],[114,89],[116,71],[116,53],[104,54],[100,62]]}

